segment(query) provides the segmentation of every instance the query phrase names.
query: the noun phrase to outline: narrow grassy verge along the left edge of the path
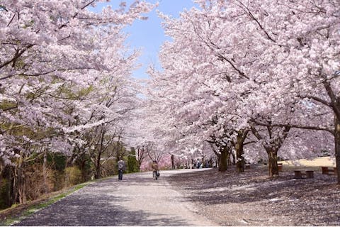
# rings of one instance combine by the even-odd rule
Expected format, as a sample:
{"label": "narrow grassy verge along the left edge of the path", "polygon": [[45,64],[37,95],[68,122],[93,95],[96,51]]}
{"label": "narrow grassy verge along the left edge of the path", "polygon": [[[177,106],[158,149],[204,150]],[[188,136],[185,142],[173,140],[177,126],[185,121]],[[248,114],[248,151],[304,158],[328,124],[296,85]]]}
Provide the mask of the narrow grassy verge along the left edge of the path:
{"label": "narrow grassy verge along the left edge of the path", "polygon": [[[54,204],[55,202],[59,201],[60,199],[63,199],[64,197],[68,196],[69,194],[72,194],[73,192],[78,191],[79,189],[85,187],[86,185],[91,184],[91,182],[85,182],[83,184],[77,184],[76,186],[72,187],[71,189],[68,189],[67,192],[62,192],[61,194],[57,194],[56,196],[52,196],[49,199],[42,200],[38,204],[32,204],[28,205],[27,208],[23,208],[22,211],[19,211],[18,214],[8,216],[4,219],[4,221],[0,222],[0,226],[11,226],[13,223],[18,223],[19,221],[23,220],[23,218],[26,218],[32,214],[34,214],[36,211],[39,211],[40,209],[44,209],[47,206],[50,206],[51,204]],[[12,206],[10,209],[13,209],[13,207],[18,207],[21,205]],[[7,211],[8,209],[6,209]],[[0,212],[1,214],[1,212]]]}

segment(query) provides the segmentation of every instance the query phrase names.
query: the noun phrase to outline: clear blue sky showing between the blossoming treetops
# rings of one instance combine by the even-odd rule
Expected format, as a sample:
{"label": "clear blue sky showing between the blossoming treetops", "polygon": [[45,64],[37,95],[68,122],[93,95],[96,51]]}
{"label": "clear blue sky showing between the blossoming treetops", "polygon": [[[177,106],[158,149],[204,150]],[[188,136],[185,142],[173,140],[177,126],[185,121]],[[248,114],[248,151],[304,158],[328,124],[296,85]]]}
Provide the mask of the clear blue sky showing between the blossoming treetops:
{"label": "clear blue sky showing between the blossoming treetops", "polygon": [[[157,2],[155,0],[147,1],[151,3]],[[133,0],[128,0],[126,2],[128,6],[130,6]],[[171,15],[174,18],[178,18],[179,13],[183,11],[183,9],[191,9],[193,6],[197,6],[192,0],[158,0],[158,2],[159,6],[157,9],[154,9],[152,12],[145,15],[149,17],[147,21],[138,20],[135,21],[132,26],[125,28],[125,32],[130,34],[127,40],[130,47],[142,50],[142,55],[139,60],[142,67],[133,73],[133,75],[137,78],[144,79],[148,77],[145,73],[148,65],[155,65],[157,68],[160,67],[157,57],[159,47],[166,39],[169,39],[164,35],[164,31],[161,26],[162,20],[158,18],[157,10],[167,15]],[[109,4],[111,4],[113,9],[115,9],[119,3],[119,0],[113,0]],[[106,4],[98,4],[96,10],[101,11],[104,5]]]}

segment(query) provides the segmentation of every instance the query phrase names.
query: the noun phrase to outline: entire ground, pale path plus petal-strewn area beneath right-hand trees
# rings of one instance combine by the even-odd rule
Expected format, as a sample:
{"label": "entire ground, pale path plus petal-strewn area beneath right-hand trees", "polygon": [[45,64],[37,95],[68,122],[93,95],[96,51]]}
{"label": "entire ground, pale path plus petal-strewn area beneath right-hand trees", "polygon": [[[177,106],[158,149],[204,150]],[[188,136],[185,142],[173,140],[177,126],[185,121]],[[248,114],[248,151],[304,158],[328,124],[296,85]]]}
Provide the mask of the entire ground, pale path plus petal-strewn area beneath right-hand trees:
{"label": "entire ground, pale path plus petal-strewn area beneath right-hand trees", "polygon": [[[296,167],[297,168],[297,167]],[[271,179],[264,165],[245,172],[216,169],[124,175],[94,182],[18,226],[340,226],[336,175],[294,179],[283,166]]]}

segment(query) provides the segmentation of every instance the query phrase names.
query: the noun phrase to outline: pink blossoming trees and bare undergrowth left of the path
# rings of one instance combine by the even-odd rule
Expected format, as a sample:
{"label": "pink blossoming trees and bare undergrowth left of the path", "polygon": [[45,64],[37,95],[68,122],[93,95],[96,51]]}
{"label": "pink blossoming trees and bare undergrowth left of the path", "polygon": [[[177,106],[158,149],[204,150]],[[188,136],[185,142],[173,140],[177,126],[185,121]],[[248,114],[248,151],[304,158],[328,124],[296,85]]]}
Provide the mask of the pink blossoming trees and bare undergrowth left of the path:
{"label": "pink blossoming trees and bare undergrowth left of the path", "polygon": [[[154,6],[91,11],[99,2],[0,3],[0,185],[9,206],[32,199],[30,181],[47,185],[49,171],[77,166],[82,181],[99,178],[126,153],[141,101],[131,77],[139,52],[122,29]],[[65,158],[62,167],[52,157]]]}

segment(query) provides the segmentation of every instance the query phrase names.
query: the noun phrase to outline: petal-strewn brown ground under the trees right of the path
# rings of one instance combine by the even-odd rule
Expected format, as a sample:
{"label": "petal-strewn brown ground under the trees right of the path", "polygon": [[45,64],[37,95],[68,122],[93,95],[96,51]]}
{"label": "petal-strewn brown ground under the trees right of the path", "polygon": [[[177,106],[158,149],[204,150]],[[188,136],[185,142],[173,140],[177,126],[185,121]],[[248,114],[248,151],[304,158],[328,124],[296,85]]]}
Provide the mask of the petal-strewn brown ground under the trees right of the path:
{"label": "petal-strewn brown ground under the trees right of the path", "polygon": [[243,173],[230,167],[168,180],[196,204],[199,214],[222,226],[340,226],[336,175],[316,169],[312,179],[294,179],[294,168],[283,167],[275,179],[268,177],[265,165],[251,165]]}

